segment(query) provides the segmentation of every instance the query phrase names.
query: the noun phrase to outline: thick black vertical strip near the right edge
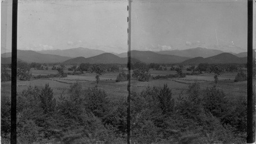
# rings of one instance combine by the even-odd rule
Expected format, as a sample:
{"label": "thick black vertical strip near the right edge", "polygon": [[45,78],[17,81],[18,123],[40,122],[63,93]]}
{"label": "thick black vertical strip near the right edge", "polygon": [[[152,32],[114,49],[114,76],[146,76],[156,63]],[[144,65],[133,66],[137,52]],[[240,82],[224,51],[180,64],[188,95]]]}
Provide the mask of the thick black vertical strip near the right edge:
{"label": "thick black vertical strip near the right edge", "polygon": [[247,137],[246,137],[246,142],[247,143],[253,143],[253,122],[252,122],[252,42],[253,42],[253,0],[248,0],[248,29],[247,29]]}

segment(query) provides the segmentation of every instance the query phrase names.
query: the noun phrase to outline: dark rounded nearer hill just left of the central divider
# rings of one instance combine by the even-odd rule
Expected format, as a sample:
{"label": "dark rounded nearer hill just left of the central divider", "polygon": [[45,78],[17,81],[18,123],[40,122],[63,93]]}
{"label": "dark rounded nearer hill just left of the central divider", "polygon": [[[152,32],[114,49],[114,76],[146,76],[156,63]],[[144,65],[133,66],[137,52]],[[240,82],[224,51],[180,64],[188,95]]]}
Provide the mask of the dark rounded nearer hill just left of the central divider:
{"label": "dark rounded nearer hill just left of the central divider", "polygon": [[[131,59],[131,61],[138,61]],[[113,53],[102,53],[92,57],[76,57],[74,59],[67,60],[63,64],[81,64],[81,63],[90,63],[90,64],[127,64],[127,57],[119,57]]]}

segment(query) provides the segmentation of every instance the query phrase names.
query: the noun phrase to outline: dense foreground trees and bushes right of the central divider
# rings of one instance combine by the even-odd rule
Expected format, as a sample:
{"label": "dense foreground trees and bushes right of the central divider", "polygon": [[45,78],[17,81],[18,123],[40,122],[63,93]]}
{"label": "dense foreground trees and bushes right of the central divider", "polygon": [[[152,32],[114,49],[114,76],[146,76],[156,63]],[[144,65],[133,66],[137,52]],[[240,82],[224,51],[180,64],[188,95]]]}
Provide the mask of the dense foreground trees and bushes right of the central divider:
{"label": "dense foreground trees and bushes right of the central divider", "polygon": [[246,98],[190,85],[175,101],[172,91],[148,87],[133,93],[132,140],[136,143],[244,143]]}

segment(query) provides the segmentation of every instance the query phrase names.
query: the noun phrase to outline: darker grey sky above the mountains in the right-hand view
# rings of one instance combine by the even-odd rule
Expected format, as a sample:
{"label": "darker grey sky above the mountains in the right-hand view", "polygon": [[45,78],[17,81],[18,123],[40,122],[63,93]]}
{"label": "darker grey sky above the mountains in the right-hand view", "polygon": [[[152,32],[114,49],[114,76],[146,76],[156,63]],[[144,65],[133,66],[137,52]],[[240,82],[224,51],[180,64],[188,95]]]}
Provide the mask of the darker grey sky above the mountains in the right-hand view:
{"label": "darker grey sky above the mountains in the right-hand view", "polygon": [[247,51],[247,1],[135,0],[132,49]]}

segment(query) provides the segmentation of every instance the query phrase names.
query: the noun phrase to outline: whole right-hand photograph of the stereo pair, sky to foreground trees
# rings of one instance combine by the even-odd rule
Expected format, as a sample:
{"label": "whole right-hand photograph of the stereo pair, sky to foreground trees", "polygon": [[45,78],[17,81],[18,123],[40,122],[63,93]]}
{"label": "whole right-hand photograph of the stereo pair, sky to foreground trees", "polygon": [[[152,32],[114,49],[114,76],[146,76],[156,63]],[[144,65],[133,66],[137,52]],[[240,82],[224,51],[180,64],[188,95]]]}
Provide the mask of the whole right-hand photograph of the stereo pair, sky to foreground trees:
{"label": "whole right-hand photograph of the stereo pair, sky to foreground trees", "polygon": [[247,1],[131,8],[131,142],[246,143]]}

